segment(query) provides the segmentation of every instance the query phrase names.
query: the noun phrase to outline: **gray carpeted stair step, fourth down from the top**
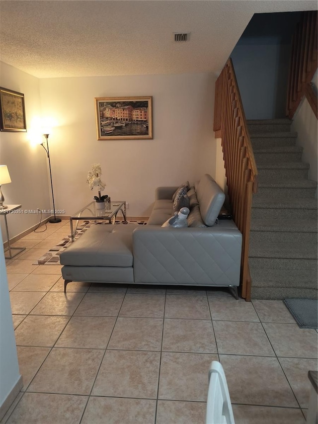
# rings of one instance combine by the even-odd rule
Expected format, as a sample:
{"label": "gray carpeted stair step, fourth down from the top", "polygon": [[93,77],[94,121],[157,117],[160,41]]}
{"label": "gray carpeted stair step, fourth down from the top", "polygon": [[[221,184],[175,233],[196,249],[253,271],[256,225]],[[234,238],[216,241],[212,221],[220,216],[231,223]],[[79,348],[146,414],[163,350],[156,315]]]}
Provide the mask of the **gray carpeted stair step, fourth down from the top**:
{"label": "gray carpeted stair step, fourth down from the top", "polygon": [[257,165],[258,180],[308,178],[309,164],[304,162],[263,162]]}

